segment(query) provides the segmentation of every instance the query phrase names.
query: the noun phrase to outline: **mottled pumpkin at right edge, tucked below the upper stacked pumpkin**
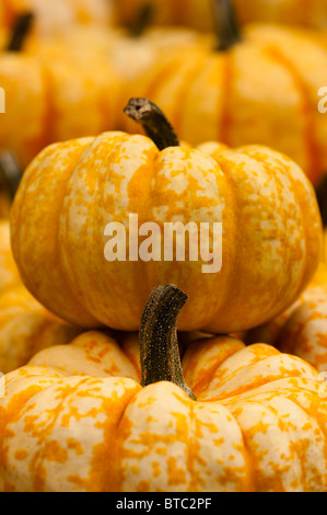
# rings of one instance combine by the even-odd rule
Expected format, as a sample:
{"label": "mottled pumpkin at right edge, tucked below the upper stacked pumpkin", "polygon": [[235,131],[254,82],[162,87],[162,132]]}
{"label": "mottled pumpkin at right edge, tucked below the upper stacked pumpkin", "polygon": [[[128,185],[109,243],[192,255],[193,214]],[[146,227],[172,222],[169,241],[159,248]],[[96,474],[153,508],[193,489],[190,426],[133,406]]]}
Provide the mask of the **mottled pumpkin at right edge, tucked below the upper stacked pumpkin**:
{"label": "mottled pumpkin at right edge, tucked below the upper stacked pumpkin", "polygon": [[246,343],[257,341],[277,346],[327,370],[327,266],[319,267],[300,298],[283,313],[244,336]]}

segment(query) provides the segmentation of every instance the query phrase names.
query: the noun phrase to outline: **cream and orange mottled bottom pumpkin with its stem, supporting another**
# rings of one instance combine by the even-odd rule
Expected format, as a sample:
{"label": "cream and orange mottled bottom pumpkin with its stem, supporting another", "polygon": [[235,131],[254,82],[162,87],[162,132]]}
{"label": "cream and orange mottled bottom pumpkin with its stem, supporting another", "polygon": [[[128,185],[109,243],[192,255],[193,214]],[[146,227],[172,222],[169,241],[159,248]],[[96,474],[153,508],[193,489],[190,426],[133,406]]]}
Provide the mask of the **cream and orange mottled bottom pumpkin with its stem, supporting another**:
{"label": "cream and orange mottled bottom pumpkin with its stem, supporting another", "polygon": [[1,491],[327,491],[317,370],[227,336],[194,342],[182,369],[185,301],[176,286],[155,288],[140,346],[90,331],[4,377]]}

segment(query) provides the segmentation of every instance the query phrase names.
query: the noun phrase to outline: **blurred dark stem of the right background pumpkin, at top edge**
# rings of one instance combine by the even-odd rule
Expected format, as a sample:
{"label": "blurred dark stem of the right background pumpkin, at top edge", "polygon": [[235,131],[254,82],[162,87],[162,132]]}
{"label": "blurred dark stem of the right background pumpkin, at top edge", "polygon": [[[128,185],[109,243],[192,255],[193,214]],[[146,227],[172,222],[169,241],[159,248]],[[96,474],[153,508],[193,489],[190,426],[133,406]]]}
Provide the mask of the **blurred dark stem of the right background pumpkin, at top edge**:
{"label": "blurred dark stem of the right background pumpkin, at top edge", "polygon": [[232,0],[213,0],[213,14],[219,38],[217,49],[226,52],[242,41]]}

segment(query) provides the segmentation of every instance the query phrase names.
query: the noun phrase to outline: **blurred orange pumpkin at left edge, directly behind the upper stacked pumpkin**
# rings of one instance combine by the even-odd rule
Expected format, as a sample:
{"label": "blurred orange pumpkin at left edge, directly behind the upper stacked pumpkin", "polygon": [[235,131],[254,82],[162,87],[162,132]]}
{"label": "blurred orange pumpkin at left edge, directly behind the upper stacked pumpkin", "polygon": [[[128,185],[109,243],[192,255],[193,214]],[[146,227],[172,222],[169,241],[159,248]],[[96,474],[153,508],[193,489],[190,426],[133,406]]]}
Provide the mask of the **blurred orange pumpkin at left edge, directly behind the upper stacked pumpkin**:
{"label": "blurred orange pumpkin at left edge, directly behind the upper stacked pumpkin", "polygon": [[0,87],[10,106],[1,115],[0,149],[14,152],[24,169],[52,141],[115,127],[120,81],[107,59],[52,42],[22,52],[24,37],[13,45],[15,34],[0,54]]}

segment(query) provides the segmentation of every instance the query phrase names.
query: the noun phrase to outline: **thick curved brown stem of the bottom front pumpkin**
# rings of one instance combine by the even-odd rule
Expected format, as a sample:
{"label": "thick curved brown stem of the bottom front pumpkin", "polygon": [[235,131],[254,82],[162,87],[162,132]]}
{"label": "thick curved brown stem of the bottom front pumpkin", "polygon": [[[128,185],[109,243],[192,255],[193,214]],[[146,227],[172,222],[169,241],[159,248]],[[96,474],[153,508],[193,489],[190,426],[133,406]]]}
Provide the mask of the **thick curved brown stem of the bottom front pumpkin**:
{"label": "thick curved brown stem of the bottom front pumpkin", "polygon": [[196,400],[184,381],[177,342],[176,321],[187,298],[174,285],[159,286],[150,295],[140,325],[141,385],[171,381]]}

